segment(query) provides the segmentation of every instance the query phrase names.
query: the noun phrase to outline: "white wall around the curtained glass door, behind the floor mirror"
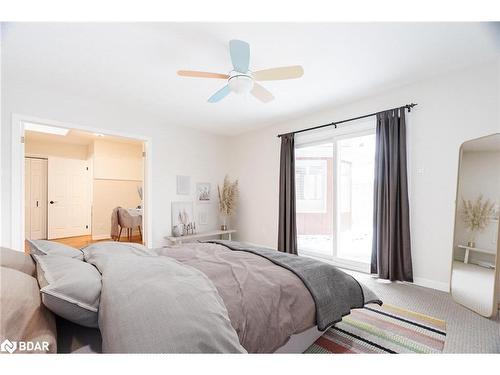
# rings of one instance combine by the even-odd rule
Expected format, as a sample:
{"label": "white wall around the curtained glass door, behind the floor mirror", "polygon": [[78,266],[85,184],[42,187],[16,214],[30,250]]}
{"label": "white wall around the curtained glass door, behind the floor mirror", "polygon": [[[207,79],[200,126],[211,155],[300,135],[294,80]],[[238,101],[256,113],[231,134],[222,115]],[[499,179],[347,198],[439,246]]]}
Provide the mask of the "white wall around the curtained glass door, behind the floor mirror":
{"label": "white wall around the curtained glass door, behind the floor mirror", "polygon": [[276,246],[278,133],[415,102],[407,116],[414,278],[447,290],[459,147],[499,131],[499,72],[495,61],[233,137],[230,170],[241,187],[237,238]]}

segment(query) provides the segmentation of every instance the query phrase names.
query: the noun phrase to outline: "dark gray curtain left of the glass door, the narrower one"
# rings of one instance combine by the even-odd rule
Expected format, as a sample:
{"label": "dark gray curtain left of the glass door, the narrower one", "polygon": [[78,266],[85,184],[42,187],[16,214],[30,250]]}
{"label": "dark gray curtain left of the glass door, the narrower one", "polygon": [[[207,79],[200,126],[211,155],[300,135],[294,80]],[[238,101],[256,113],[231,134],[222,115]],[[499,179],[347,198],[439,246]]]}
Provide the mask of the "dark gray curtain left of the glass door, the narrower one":
{"label": "dark gray curtain left of the glass door, the narrower one", "polygon": [[295,142],[293,134],[281,136],[278,250],[297,254]]}

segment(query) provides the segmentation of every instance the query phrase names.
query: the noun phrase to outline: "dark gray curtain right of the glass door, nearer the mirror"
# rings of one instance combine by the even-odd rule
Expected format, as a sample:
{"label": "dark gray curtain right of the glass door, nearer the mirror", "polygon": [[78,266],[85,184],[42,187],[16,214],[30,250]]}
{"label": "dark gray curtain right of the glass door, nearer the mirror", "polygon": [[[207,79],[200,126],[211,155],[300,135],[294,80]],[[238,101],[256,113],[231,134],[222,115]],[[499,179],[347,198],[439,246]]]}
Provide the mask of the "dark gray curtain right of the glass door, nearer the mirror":
{"label": "dark gray curtain right of the glass door, nearer the mirror", "polygon": [[377,115],[371,273],[413,281],[405,108]]}

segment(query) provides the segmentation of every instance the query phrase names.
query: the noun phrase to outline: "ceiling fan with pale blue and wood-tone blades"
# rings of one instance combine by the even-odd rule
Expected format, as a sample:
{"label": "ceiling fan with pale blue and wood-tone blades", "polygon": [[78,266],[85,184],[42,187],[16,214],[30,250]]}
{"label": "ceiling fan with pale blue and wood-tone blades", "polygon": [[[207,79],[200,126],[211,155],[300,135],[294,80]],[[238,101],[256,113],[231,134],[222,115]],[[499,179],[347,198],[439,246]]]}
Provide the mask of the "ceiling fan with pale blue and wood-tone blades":
{"label": "ceiling fan with pale blue and wood-tone blades", "polygon": [[225,79],[227,84],[208,98],[209,103],[217,103],[232,91],[237,94],[250,92],[263,103],[274,99],[266,88],[256,81],[277,81],[300,78],[304,69],[300,65],[282,66],[252,72],[250,65],[250,45],[242,40],[229,41],[229,52],[233,63],[233,70],[229,74],[199,72],[194,70],[179,70],[178,75],[183,77]]}

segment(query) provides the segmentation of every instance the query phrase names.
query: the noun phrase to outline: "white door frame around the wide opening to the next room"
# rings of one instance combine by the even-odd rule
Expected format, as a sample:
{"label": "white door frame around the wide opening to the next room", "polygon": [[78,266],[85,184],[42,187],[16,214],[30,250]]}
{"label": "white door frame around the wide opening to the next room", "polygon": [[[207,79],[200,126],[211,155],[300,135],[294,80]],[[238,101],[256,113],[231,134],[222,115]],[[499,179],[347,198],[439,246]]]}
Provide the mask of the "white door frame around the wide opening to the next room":
{"label": "white door frame around the wide opening to the next room", "polygon": [[144,200],[143,200],[143,236],[146,247],[152,247],[153,230],[152,230],[152,138],[133,134],[129,132],[114,131],[92,126],[84,126],[68,122],[56,121],[38,118],[29,115],[12,114],[12,138],[11,138],[11,247],[18,251],[24,251],[25,237],[25,201],[24,201],[24,122],[34,122],[54,126],[58,128],[76,129],[87,131],[90,133],[99,133],[123,138],[139,140],[144,143]]}

